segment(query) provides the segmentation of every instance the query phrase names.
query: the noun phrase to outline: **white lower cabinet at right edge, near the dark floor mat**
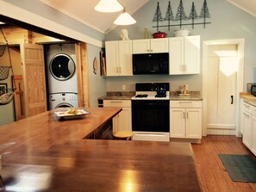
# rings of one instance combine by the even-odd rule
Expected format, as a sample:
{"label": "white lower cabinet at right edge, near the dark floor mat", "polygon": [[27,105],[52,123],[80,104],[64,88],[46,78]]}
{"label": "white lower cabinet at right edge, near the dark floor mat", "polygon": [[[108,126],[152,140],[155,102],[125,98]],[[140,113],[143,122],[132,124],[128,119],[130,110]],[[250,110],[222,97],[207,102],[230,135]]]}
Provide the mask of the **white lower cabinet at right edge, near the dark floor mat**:
{"label": "white lower cabinet at right edge, near the dark floor mat", "polygon": [[240,100],[240,130],[242,142],[256,155],[256,107]]}

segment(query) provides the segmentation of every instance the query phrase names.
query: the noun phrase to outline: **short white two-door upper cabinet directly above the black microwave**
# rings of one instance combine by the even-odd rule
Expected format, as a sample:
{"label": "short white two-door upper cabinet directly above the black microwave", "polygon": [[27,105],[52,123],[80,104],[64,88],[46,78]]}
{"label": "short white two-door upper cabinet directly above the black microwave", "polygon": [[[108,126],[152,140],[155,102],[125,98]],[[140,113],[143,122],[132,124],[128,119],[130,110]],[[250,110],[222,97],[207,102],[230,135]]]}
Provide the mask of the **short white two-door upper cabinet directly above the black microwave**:
{"label": "short white two-door upper cabinet directly above the black microwave", "polygon": [[133,53],[168,53],[168,38],[133,40]]}

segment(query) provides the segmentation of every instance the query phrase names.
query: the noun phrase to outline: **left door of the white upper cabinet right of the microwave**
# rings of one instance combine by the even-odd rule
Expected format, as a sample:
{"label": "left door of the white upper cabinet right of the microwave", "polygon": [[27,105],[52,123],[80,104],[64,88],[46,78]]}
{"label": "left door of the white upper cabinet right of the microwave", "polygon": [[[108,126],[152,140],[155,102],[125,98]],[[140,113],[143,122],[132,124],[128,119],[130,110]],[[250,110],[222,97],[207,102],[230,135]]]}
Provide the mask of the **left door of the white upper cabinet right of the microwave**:
{"label": "left door of the white upper cabinet right of the microwave", "polygon": [[169,74],[184,74],[184,38],[169,39]]}

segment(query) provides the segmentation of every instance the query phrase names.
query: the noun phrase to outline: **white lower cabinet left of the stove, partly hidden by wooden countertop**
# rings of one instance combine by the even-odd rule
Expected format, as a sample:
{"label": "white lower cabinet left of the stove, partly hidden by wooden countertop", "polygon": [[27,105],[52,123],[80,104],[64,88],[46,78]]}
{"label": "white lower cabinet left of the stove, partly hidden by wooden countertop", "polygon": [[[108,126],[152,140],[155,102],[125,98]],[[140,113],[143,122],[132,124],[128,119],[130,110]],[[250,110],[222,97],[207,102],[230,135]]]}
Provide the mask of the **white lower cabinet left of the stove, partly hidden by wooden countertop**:
{"label": "white lower cabinet left of the stove, partly hidden by wooden countertop", "polygon": [[130,100],[103,100],[104,108],[122,108],[113,118],[113,132],[132,131],[132,110]]}

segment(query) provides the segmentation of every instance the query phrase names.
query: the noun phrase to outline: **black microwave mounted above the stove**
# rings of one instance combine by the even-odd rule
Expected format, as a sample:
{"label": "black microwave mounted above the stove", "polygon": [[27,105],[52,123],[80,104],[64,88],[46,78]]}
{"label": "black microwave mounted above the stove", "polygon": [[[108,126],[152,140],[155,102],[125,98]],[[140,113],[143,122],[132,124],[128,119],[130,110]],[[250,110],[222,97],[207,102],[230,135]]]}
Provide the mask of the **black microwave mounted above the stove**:
{"label": "black microwave mounted above the stove", "polygon": [[133,54],[133,73],[169,74],[169,53]]}

